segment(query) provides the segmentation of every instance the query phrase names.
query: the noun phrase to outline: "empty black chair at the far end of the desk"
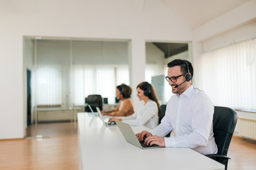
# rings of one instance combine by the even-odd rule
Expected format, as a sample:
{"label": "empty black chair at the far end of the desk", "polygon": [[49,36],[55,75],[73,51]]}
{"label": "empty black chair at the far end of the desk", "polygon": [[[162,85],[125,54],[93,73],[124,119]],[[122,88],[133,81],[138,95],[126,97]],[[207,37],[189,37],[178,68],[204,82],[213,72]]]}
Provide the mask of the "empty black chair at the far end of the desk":
{"label": "empty black chair at the far end of the desk", "polygon": [[[89,104],[93,111],[96,112],[96,107],[102,110],[102,98],[99,94],[92,94],[85,98],[85,103]],[[84,108],[85,112],[91,112],[90,108],[86,106]]]}

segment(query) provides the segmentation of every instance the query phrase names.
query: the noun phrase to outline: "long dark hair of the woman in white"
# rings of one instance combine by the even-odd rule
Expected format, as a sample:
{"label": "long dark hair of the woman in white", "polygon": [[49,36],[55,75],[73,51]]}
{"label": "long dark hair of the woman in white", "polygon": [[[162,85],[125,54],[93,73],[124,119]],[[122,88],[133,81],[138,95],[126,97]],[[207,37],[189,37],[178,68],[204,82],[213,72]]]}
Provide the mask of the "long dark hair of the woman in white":
{"label": "long dark hair of the woman in white", "polygon": [[147,95],[145,95],[145,96],[148,96],[148,98],[150,98],[150,100],[155,101],[155,103],[157,103],[158,116],[160,118],[160,116],[161,116],[160,104],[158,103],[157,95],[155,94],[155,90],[154,90],[153,86],[151,84],[149,84],[148,81],[143,81],[140,84],[138,84],[136,89],[138,89],[138,88],[140,88],[144,91],[144,95],[145,95],[145,91],[146,91]]}

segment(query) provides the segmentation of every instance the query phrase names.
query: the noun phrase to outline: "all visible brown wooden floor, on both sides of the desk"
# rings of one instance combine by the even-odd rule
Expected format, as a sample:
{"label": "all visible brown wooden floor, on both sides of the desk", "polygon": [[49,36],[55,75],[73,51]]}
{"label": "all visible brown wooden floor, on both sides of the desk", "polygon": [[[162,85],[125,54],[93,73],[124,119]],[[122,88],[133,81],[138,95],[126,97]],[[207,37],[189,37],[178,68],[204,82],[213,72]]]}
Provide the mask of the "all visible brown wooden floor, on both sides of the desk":
{"label": "all visible brown wooden floor, on both sides of the desk", "polygon": [[[0,170],[78,169],[78,137],[74,135],[76,128],[72,125],[72,123],[52,123],[52,125],[48,123],[38,126],[38,132],[43,138],[0,140]],[[48,128],[40,129],[42,127]],[[63,132],[65,128],[69,129],[66,135]],[[70,128],[74,128],[73,131]],[[228,162],[228,169],[256,169],[256,144],[234,136],[228,157],[232,158]]]}

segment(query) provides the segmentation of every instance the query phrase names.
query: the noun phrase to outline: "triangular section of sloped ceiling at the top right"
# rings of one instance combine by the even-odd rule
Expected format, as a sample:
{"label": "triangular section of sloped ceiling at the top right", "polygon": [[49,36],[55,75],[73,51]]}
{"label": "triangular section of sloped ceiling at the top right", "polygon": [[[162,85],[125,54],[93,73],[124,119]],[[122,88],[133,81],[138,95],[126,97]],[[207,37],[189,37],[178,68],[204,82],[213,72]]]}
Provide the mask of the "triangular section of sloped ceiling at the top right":
{"label": "triangular section of sloped ceiling at the top right", "polygon": [[197,28],[250,0],[162,0],[191,28]]}

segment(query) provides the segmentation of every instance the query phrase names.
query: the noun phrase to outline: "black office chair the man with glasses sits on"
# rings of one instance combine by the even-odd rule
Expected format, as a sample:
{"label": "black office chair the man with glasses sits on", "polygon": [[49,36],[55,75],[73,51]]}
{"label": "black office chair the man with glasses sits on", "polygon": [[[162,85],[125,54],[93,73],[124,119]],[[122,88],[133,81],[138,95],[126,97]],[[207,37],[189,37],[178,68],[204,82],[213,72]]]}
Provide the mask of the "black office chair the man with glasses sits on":
{"label": "black office chair the man with glasses sits on", "polygon": [[213,133],[218,147],[217,154],[206,154],[207,157],[220,162],[228,168],[228,147],[230,145],[235,125],[238,121],[238,115],[233,109],[215,106],[213,113]]}

